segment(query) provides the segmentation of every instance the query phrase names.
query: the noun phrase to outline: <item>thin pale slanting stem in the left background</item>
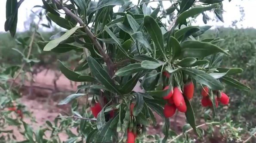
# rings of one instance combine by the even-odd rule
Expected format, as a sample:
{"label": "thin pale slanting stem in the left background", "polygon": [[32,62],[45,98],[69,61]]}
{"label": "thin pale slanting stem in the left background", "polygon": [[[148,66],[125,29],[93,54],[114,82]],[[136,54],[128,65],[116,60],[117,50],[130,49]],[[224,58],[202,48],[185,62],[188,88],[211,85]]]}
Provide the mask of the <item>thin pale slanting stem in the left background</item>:
{"label": "thin pale slanting stem in the left background", "polygon": [[[34,39],[35,39],[35,35],[36,35],[36,33],[37,33],[38,25],[40,24],[41,20],[42,20],[42,18],[40,17],[40,18],[39,18],[39,21],[37,22],[37,25],[36,25],[36,27],[35,27],[35,30],[34,30],[34,32],[33,32],[32,35],[31,35],[31,40],[30,40],[30,43],[29,43],[29,45],[28,45],[28,55],[27,55],[27,59],[28,59],[28,58],[30,57],[30,55],[31,55],[32,45],[33,45],[33,42],[34,42]],[[13,78],[13,80],[12,80],[12,83],[10,84],[10,87],[9,87],[9,89],[8,89],[8,91],[7,91],[7,95],[8,95],[8,93],[9,93],[9,91],[12,89],[12,86],[13,86],[13,84],[15,83],[15,81],[17,80],[17,78],[19,77],[19,75],[22,73],[22,70],[23,70],[25,64],[26,64],[26,63],[22,63],[21,68],[19,69],[19,71],[17,72],[17,74],[15,74],[15,76],[14,76],[14,78]]]}

